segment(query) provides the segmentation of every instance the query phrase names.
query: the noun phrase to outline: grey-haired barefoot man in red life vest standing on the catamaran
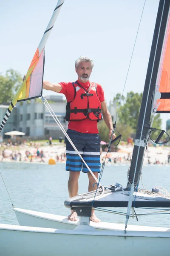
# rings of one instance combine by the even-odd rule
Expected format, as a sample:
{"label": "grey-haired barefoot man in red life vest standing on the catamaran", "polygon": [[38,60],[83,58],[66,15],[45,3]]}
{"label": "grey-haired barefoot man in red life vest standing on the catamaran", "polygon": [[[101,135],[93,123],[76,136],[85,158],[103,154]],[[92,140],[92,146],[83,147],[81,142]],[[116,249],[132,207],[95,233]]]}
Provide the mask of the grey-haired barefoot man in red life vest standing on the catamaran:
{"label": "grey-haired barefoot man in red life vest standing on the catamaran", "polygon": [[[67,134],[95,177],[98,178],[98,173],[100,172],[100,137],[97,122],[103,116],[109,129],[109,137],[111,137],[112,119],[105,103],[102,86],[89,81],[93,67],[94,63],[90,58],[80,56],[75,61],[75,69],[78,76],[77,81],[73,83],[61,82],[59,84],[51,84],[48,81],[43,81],[43,88],[57,93],[63,93],[66,96],[65,119],[69,121]],[[68,180],[69,196],[74,197],[78,193],[78,179],[81,170],[82,172],[88,173],[88,191],[95,190],[97,185],[94,186],[94,183],[96,183],[94,177],[88,171],[85,164],[82,163],[82,160],[67,139],[65,139],[65,142],[67,157],[66,170],[70,172]],[[77,213],[71,211],[68,219],[77,221]],[[100,221],[96,217],[93,209],[90,219],[94,222]]]}

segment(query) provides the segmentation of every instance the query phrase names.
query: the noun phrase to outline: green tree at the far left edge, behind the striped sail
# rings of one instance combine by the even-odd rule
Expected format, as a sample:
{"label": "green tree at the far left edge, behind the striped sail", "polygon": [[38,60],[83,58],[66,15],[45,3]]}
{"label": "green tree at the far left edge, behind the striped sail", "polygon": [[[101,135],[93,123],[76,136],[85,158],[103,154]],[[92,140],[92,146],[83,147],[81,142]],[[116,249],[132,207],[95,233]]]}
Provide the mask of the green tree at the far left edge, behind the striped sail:
{"label": "green tree at the far left edge, behind the striped sail", "polygon": [[0,75],[0,104],[10,103],[22,84],[22,77],[17,71],[10,69],[6,75]]}

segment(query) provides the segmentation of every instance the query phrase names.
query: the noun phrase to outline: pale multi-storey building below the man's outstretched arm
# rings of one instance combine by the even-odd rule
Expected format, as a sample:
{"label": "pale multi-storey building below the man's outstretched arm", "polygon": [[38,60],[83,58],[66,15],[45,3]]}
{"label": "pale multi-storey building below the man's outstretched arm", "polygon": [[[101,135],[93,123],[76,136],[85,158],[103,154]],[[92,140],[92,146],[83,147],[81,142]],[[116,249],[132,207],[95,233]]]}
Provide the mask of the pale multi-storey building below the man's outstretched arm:
{"label": "pale multi-storey building below the man's outstretched arm", "polygon": [[[67,122],[65,121],[65,100],[62,95],[46,96],[49,102],[46,106],[49,110],[54,111],[55,115],[61,122],[63,128],[67,130]],[[19,131],[25,132],[26,136],[44,138],[51,136],[53,139],[63,137],[62,131],[57,125],[51,113],[45,105],[36,99],[23,102],[22,106],[18,106],[19,115]]]}

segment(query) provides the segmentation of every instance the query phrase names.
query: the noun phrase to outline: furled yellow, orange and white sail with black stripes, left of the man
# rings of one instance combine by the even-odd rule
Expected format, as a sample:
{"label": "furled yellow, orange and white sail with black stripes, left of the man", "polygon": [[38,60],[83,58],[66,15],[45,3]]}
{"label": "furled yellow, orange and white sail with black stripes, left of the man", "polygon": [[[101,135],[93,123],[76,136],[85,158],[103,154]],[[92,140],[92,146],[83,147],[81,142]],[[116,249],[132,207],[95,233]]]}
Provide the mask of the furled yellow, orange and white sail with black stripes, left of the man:
{"label": "furled yellow, orange and white sail with black stripes, left of the man", "polygon": [[14,105],[17,102],[28,100],[28,99],[35,99],[42,96],[42,81],[43,81],[44,62],[45,62],[45,57],[44,57],[45,44],[47,42],[51,29],[54,26],[54,23],[57,19],[57,16],[59,14],[59,11],[63,3],[64,3],[64,0],[58,0],[57,6],[54,9],[53,15],[51,16],[51,20],[49,21],[48,26],[45,29],[44,35],[42,36],[40,44],[28,68],[25,80],[21,84],[17,94],[14,96],[14,99],[9,105],[6,111],[6,114],[3,118],[3,121],[1,122],[0,132],[2,131],[9,115],[11,114],[11,111],[14,108]]}

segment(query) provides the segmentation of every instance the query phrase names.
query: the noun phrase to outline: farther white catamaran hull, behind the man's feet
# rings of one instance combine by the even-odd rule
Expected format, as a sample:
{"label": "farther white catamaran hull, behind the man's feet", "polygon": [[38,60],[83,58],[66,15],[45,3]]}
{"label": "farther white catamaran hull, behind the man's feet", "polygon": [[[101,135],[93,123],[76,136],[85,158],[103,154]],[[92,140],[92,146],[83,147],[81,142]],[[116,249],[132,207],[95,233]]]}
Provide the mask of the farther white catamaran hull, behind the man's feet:
{"label": "farther white catamaran hull, behind the man's feet", "polygon": [[[67,217],[55,214],[49,214],[45,212],[37,212],[26,209],[14,208],[14,212],[17,216],[17,220],[21,226],[28,227],[47,227],[57,228],[62,230],[74,230],[79,224],[78,221],[69,221]],[[125,224],[116,224],[110,222],[95,223],[90,221],[90,226],[97,230],[125,230]],[[170,228],[166,227],[148,227],[138,225],[128,225],[127,231],[155,231],[155,232],[167,232]]]}

